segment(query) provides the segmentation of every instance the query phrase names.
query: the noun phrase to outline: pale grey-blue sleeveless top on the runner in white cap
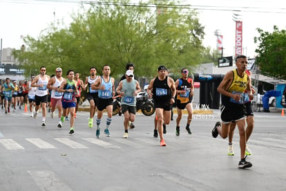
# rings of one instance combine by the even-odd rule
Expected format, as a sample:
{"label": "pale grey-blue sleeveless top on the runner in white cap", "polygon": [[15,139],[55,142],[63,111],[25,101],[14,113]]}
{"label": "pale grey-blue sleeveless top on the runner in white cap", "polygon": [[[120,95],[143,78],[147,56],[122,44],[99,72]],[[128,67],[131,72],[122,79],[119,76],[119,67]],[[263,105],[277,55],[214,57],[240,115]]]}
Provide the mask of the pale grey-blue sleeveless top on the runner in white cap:
{"label": "pale grey-blue sleeveless top on the runner in white cap", "polygon": [[136,105],[136,97],[133,96],[134,91],[136,91],[136,80],[127,82],[127,80],[122,80],[122,91],[124,96],[122,96],[121,104],[127,104],[130,106]]}

